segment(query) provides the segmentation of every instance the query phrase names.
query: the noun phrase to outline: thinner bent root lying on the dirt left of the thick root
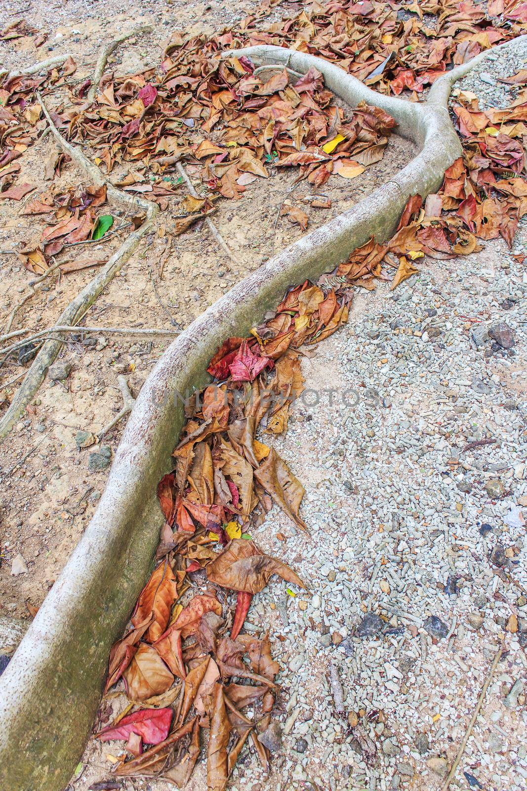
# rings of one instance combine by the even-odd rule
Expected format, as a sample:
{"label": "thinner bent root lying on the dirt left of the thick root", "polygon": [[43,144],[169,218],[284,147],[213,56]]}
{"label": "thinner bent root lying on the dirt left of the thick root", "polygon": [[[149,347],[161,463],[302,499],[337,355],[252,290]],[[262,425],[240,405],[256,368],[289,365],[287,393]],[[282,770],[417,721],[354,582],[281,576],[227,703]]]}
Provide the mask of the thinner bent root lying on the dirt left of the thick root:
{"label": "thinner bent root lying on the dirt left of the thick root", "polygon": [[[88,160],[88,157],[85,156],[80,148],[72,146],[71,143],[67,142],[67,140],[62,137],[62,134],[60,134],[57,127],[55,127],[55,123],[51,120],[51,115],[47,111],[46,104],[44,104],[40,93],[37,93],[37,96],[51,129],[51,134],[53,134],[62,150],[68,154],[71,160],[81,168],[83,172],[85,172],[86,176],[92,180],[93,184],[96,184],[98,187],[102,187],[103,184],[106,184],[108,197],[125,206],[134,206],[137,210],[146,212],[145,221],[143,221],[139,228],[133,233],[130,233],[130,236],[123,241],[119,249],[108,259],[104,267],[96,274],[96,277],[88,282],[84,289],[77,294],[77,297],[70,302],[70,305],[58,316],[55,324],[70,327],[81,321],[86,312],[88,312],[88,309],[91,308],[96,301],[101,291],[103,291],[108,283],[115,278],[115,275],[119,272],[123,263],[126,263],[130,255],[134,253],[141,237],[152,227],[152,220],[159,211],[159,206],[144,198],[130,197],[130,195],[126,195],[126,192],[122,192],[117,189],[117,187],[114,187],[113,184],[110,184],[110,182],[104,178],[100,169]],[[50,331],[53,330],[54,328],[50,327]],[[63,343],[63,339],[47,340],[43,343],[39,353],[32,362],[31,368],[28,370],[28,373],[26,373],[21,386],[18,388],[13,401],[10,403],[9,409],[0,419],[0,442],[6,438],[9,431],[20,419],[28,403],[40,388],[46,376],[47,369],[57,357]]]}

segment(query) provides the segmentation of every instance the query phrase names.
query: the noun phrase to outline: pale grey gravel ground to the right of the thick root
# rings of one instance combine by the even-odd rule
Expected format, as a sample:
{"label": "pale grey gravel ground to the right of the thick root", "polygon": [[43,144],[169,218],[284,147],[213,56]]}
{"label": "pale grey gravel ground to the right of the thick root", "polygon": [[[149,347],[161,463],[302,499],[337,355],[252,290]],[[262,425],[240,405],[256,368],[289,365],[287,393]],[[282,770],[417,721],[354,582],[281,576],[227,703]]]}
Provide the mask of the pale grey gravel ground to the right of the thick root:
{"label": "pale grey gravel ground to the right of the thick root", "polygon": [[[524,59],[522,44],[482,69],[495,80]],[[460,87],[482,106],[515,95],[474,74]],[[513,257],[527,253],[526,227],[512,251],[493,240],[425,259],[394,292],[358,292],[348,326],[303,358],[307,391],[286,437],[261,437],[306,486],[311,530],[273,509],[253,532],[311,591],[273,582],[251,606],[284,668],[283,751],[265,789],[284,778],[439,788],[504,637],[454,780],[466,787],[466,771],[483,787],[525,789],[527,641],[506,629],[527,618],[527,273]],[[254,782],[254,763],[236,767],[236,787]]]}

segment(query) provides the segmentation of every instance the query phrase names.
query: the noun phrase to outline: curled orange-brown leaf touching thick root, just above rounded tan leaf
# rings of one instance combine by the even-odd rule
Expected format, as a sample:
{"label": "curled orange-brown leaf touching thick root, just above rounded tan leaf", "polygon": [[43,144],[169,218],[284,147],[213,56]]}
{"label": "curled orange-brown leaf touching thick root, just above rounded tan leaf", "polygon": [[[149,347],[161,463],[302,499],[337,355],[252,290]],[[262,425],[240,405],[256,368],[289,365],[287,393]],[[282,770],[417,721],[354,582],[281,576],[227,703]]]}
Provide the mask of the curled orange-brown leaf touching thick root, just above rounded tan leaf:
{"label": "curled orange-brown leaf touching thick root, just above rounded tan leaf", "polygon": [[138,626],[140,623],[149,619],[153,615],[153,622],[149,626],[146,640],[155,642],[167,628],[170,619],[170,611],[177,596],[177,585],[171,566],[165,559],[142,589],[137,606],[132,616],[132,623]]}

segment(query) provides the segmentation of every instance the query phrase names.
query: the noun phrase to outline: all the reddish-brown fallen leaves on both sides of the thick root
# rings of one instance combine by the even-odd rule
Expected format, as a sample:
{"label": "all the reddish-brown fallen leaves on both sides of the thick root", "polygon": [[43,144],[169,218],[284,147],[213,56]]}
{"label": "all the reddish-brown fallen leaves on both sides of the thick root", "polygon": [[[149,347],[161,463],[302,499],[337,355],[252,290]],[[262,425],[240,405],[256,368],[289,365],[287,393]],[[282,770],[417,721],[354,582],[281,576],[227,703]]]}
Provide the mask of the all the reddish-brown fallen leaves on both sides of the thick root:
{"label": "all the reddish-brown fallen leaves on both sides of the thick root", "polygon": [[[164,209],[181,182],[171,178],[171,168],[178,161],[193,167],[203,194],[181,200],[177,233],[215,211],[217,199],[239,199],[281,167],[297,168],[297,180],[314,188],[303,202],[329,208],[318,189],[329,179],[356,178],[380,161],[397,131],[394,120],[364,103],[341,108],[316,69],[301,78],[281,67],[256,74],[247,58],[221,61],[220,51],[293,47],[337,63],[380,93],[419,100],[447,67],[520,35],[527,24],[525,4],[517,0],[492,0],[486,8],[429,0],[404,6],[405,19],[398,3],[314,3],[269,25],[273,5],[262,4],[238,30],[217,36],[174,32],[159,68],[105,75],[91,105],[88,85],[74,88],[68,81],[76,70],[72,59],[47,74],[8,75],[0,88],[0,199],[19,202],[36,189],[17,183],[17,159],[40,134],[36,90],[54,85],[70,94],[70,104],[51,114],[62,134],[89,143],[108,173],[122,162],[136,163],[121,185],[128,191],[147,191]],[[0,38],[37,33],[17,21]],[[368,240],[318,283],[289,290],[250,336],[226,339],[210,361],[214,382],[187,405],[174,470],[158,488],[165,524],[156,569],[130,630],[111,650],[105,692],[122,679],[130,701],[125,716],[97,734],[126,742],[131,757],[121,755],[115,774],[159,776],[182,788],[203,731],[209,732],[209,789],[226,787],[249,737],[267,769],[269,751],[258,735],[271,722],[280,668],[269,635],[254,638],[243,624],[253,596],[273,575],[305,586],[294,570],[263,553],[250,532],[273,501],[297,528],[307,531],[307,525],[299,513],[302,484],[256,434],[287,430],[289,409],[303,392],[301,347],[346,322],[354,286],[371,290],[385,280],[395,288],[416,274],[424,255],[468,255],[481,249],[478,240],[501,236],[511,246],[527,210],[525,70],[503,81],[517,90],[505,109],[481,112],[475,96],[454,92],[463,156],[446,171],[437,195],[424,203],[420,195],[408,199],[390,240]],[[46,163],[47,180],[64,161],[60,155]],[[24,265],[42,274],[70,244],[104,237],[113,225],[111,214],[100,213],[105,202],[105,188],[89,186],[51,187],[28,198],[23,214],[43,218],[47,227],[21,251]],[[284,201],[280,214],[307,229],[309,216],[295,202]]]}

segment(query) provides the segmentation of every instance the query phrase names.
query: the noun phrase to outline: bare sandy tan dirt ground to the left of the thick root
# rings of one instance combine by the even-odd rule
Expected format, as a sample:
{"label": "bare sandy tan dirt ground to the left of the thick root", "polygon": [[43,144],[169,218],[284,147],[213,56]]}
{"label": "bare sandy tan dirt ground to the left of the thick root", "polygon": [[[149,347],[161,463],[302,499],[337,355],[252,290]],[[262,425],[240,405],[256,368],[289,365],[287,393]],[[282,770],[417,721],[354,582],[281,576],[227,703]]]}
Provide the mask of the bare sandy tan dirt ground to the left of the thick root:
{"label": "bare sandy tan dirt ground to the left of the thick root", "polygon": [[[153,4],[152,4],[153,6]],[[100,21],[98,4],[67,3],[50,10],[43,3],[33,3],[24,18],[36,28],[50,32],[47,47],[35,51],[32,40],[18,39],[13,44],[0,44],[2,61],[9,67],[21,67],[43,59],[55,51],[69,51],[78,64],[76,77],[82,81],[92,74],[93,64],[101,43],[111,40],[122,30],[137,23],[152,25],[152,34],[132,40],[120,47],[111,66],[119,74],[135,72],[141,65],[160,59],[161,45],[169,33],[177,28],[210,32],[220,29],[231,11],[242,11],[235,3],[174,3],[153,13],[149,6],[143,10],[133,4],[126,9],[117,4],[104,6],[107,20]],[[250,4],[244,6],[250,8]],[[9,12],[7,16],[6,11]],[[15,8],[7,9],[0,17],[0,25],[13,21]],[[199,21],[198,21],[199,20]],[[161,24],[160,24],[161,23]],[[51,101],[50,101],[51,104]],[[21,158],[22,181],[36,184],[43,191],[42,163],[55,149],[47,135],[30,146]],[[308,230],[329,221],[341,211],[367,195],[375,187],[397,172],[412,157],[408,142],[392,135],[382,161],[355,180],[349,182],[332,176],[321,191],[332,201],[330,209],[306,206],[310,217]],[[187,172],[192,177],[192,168]],[[112,174],[113,180],[125,175],[126,168]],[[291,244],[302,235],[298,225],[287,218],[277,219],[284,199],[295,199],[313,194],[311,185],[301,183],[292,188],[293,173],[274,169],[269,180],[258,179],[238,201],[221,200],[214,216],[216,226],[227,240],[235,261],[225,255],[204,226],[180,237],[173,237],[174,218],[180,214],[179,196],[170,199],[168,209],[160,212],[152,233],[143,240],[137,252],[111,285],[88,312],[86,324],[101,327],[156,327],[183,330],[222,293],[231,288],[262,262]],[[82,176],[73,165],[62,169],[56,187],[67,188],[79,183]],[[87,183],[86,183],[87,185]],[[181,199],[187,194],[179,187]],[[28,196],[30,199],[32,196]],[[39,218],[21,216],[20,203],[2,202],[0,205],[0,248],[20,248],[34,233],[35,226],[45,227]],[[114,214],[122,210],[114,211]],[[104,244],[90,245],[89,257],[106,260],[122,241],[122,235],[111,237]],[[93,249],[95,248],[95,249]],[[73,253],[71,252],[73,249]],[[64,260],[86,254],[70,248],[62,253]],[[157,280],[160,262],[164,261],[163,279]],[[29,327],[38,331],[51,326],[70,300],[93,277],[94,270],[49,278],[40,293],[24,304],[17,314],[12,329]],[[28,281],[34,277],[26,271],[14,255],[2,254],[0,271],[0,320],[6,326],[7,317],[17,302],[27,293]],[[163,305],[160,304],[163,302]],[[96,345],[93,345],[96,343]],[[148,376],[156,360],[168,346],[169,339],[130,339],[115,336],[91,336],[65,345],[61,361],[73,365],[70,377],[64,382],[45,380],[26,419],[15,426],[8,440],[0,448],[0,513],[2,514],[2,564],[0,566],[0,612],[27,617],[26,603],[39,607],[47,591],[64,566],[73,547],[80,539],[96,508],[104,489],[107,471],[88,471],[88,456],[97,446],[79,450],[75,445],[78,430],[97,434],[122,406],[117,386],[119,374],[126,374],[134,395]],[[9,399],[19,384],[28,365],[19,365],[10,358],[2,371],[0,399],[6,409]],[[104,437],[104,444],[112,452],[119,444],[125,422],[122,421]],[[21,554],[28,572],[11,574],[13,558]]]}

